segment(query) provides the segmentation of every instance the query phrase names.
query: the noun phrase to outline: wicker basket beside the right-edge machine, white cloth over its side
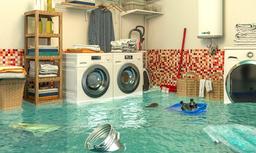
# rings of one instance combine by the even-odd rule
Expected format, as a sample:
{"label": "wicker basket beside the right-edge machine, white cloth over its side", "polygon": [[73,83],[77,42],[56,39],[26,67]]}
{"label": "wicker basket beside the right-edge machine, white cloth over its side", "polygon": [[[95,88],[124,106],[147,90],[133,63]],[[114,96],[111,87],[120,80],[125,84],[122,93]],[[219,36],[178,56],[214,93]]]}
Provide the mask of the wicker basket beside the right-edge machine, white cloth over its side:
{"label": "wicker basket beside the right-edge machine, white cloth over its side", "polygon": [[[220,78],[221,77],[221,78]],[[211,79],[210,79],[211,78]],[[223,100],[224,99],[224,77],[220,73],[210,74],[207,80],[211,80],[212,91],[204,90],[204,98]]]}

